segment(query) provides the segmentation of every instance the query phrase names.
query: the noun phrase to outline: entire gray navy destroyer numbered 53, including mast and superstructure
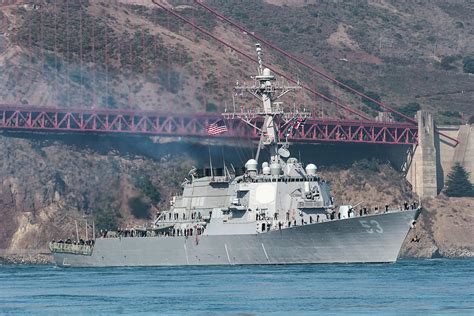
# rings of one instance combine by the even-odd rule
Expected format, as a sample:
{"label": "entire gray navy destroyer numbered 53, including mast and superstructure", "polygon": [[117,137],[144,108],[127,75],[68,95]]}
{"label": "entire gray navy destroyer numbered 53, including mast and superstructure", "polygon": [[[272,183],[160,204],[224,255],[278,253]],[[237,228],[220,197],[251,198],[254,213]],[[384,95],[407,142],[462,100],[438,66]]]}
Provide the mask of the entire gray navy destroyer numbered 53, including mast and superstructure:
{"label": "entire gray navy destroyer numbered 53, including mast and superstructure", "polygon": [[[108,231],[91,241],[51,242],[58,266],[174,266],[395,262],[420,206],[380,211],[335,205],[328,183],[310,163],[291,157],[280,131],[308,116],[277,101],[298,86],[280,86],[263,67],[237,85],[260,100],[252,112],[224,113],[257,128],[256,157],[243,170],[191,170],[183,192],[149,227]],[[263,123],[257,126],[256,117]],[[284,135],[284,134],[283,134]],[[282,137],[284,138],[284,137]],[[269,161],[259,162],[262,149]],[[95,235],[95,234],[94,234]]]}

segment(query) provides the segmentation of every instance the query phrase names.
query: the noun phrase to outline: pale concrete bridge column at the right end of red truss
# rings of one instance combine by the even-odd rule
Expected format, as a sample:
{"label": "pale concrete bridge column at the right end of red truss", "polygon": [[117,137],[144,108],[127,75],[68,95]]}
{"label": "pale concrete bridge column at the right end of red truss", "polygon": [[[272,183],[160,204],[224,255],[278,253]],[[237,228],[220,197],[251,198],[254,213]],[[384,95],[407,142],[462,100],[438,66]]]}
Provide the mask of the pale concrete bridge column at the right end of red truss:
{"label": "pale concrete bridge column at the right end of red truss", "polygon": [[420,198],[436,196],[443,187],[439,136],[430,113],[418,111],[418,145],[414,145],[407,180]]}

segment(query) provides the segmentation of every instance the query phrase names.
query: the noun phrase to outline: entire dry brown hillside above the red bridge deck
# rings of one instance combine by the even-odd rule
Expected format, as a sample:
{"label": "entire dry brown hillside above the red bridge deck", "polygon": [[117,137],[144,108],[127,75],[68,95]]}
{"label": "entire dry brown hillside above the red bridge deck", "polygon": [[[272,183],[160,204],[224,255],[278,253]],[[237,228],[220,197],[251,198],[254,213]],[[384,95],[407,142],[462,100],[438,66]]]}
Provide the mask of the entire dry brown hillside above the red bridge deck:
{"label": "entire dry brown hillside above the red bridge deck", "polygon": [[[216,111],[230,106],[235,81],[254,72],[255,65],[235,51],[147,1],[36,3],[1,7],[3,103]],[[189,1],[170,3],[179,14],[253,54],[254,40],[245,34]],[[416,102],[436,112],[440,123],[456,123],[460,112],[474,112],[474,79],[463,72],[463,60],[474,51],[474,12],[467,0],[206,3],[394,107]],[[265,58],[318,91],[375,115],[377,106],[268,48]],[[312,95],[292,102],[318,115],[347,116]]]}

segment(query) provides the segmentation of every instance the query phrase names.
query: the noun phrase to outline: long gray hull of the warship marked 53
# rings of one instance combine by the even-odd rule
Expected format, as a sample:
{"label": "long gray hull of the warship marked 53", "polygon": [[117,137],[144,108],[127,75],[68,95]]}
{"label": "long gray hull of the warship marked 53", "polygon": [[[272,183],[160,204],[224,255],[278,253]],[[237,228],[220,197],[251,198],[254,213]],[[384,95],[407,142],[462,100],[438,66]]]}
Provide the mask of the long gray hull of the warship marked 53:
{"label": "long gray hull of the warship marked 53", "polygon": [[53,253],[59,266],[175,266],[395,262],[419,210],[253,235],[98,238],[91,255]]}

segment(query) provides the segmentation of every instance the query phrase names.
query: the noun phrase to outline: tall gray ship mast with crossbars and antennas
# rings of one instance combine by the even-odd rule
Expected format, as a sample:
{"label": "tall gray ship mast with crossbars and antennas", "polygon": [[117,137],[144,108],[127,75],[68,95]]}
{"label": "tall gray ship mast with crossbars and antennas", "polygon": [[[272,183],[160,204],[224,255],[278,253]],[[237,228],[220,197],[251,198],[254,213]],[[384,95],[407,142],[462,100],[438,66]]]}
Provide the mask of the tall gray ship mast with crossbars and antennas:
{"label": "tall gray ship mast with crossbars and antennas", "polygon": [[[239,82],[237,82],[235,90],[238,93],[240,92],[240,94],[244,92],[250,93],[262,102],[262,107],[248,112],[224,113],[224,116],[227,118],[237,117],[260,132],[260,141],[258,143],[255,160],[258,161],[260,150],[266,146],[270,150],[271,162],[280,163],[280,156],[287,158],[289,153],[285,150],[287,144],[284,145],[284,149],[280,148],[279,151],[278,120],[279,118],[283,118],[288,121],[294,118],[297,113],[284,112],[281,108],[281,102],[275,101],[287,93],[299,89],[300,86],[279,86],[275,84],[275,76],[271,73],[270,69],[264,67],[263,52],[260,44],[256,44],[255,47],[258,58],[258,75],[252,77],[252,79],[254,79],[253,85],[239,85]],[[307,113],[298,114],[306,116]],[[263,125],[261,128],[253,123],[257,116],[263,117]]]}

